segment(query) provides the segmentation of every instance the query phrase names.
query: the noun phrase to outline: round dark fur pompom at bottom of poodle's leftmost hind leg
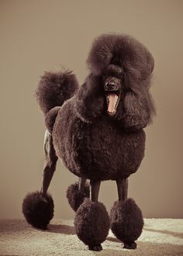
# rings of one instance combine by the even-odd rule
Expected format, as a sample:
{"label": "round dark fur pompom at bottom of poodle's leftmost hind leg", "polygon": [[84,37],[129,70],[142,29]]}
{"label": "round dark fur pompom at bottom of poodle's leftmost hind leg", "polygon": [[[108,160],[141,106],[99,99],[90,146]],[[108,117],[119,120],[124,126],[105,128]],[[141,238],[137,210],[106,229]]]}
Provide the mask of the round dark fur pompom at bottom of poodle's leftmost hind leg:
{"label": "round dark fur pompom at bottom of poodle's leftmost hind leg", "polygon": [[54,216],[54,200],[51,195],[43,195],[42,192],[29,193],[23,199],[22,213],[33,227],[46,230]]}

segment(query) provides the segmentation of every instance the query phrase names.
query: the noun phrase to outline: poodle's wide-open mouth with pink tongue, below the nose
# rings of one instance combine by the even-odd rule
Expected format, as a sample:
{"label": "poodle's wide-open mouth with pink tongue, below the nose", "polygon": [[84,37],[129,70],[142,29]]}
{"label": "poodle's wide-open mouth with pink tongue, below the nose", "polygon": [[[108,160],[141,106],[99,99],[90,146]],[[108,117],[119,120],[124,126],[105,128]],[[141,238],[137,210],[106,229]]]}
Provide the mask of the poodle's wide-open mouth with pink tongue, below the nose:
{"label": "poodle's wide-open mouth with pink tongue, below the nose", "polygon": [[106,92],[106,99],[107,99],[107,112],[109,116],[114,116],[116,114],[116,109],[119,104],[119,91]]}

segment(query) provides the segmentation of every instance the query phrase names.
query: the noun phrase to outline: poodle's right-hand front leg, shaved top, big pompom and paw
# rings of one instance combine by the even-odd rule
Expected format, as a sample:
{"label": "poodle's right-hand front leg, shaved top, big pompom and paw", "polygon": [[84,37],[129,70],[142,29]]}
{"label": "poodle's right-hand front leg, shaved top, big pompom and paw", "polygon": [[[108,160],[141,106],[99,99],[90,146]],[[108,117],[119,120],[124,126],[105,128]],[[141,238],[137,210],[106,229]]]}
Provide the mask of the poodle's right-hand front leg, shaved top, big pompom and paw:
{"label": "poodle's right-hand front leg, shaved top, big pompom and paw", "polygon": [[143,230],[142,212],[133,199],[127,199],[127,179],[119,179],[116,183],[119,201],[114,203],[110,212],[111,230],[123,241],[124,248],[135,249],[135,240]]}

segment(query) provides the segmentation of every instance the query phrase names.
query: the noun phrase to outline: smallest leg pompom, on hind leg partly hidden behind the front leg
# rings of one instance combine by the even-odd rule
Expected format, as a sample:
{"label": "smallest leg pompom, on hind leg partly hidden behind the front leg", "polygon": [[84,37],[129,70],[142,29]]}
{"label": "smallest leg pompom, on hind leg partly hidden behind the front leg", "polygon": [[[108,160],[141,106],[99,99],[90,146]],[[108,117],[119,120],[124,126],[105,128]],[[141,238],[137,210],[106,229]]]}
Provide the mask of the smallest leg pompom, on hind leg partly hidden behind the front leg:
{"label": "smallest leg pompom, on hind leg partly hidden behind the front leg", "polygon": [[86,184],[81,192],[79,191],[79,184],[76,182],[68,187],[66,195],[71,208],[76,212],[84,199],[90,196],[90,187]]}

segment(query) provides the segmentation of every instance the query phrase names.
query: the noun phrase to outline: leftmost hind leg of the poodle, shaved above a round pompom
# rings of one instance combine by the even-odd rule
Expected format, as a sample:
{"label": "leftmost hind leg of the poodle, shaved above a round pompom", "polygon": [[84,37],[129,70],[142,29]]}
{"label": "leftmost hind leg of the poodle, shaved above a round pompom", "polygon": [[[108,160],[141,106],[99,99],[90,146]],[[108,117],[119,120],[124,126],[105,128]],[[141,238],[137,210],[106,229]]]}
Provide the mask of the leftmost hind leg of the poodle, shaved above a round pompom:
{"label": "leftmost hind leg of the poodle, shaved above a round pompom", "polygon": [[51,134],[46,131],[44,138],[45,164],[43,168],[43,184],[41,191],[31,192],[22,202],[22,213],[33,227],[47,229],[47,224],[54,216],[54,200],[47,194],[47,189],[54,175],[57,155]]}

